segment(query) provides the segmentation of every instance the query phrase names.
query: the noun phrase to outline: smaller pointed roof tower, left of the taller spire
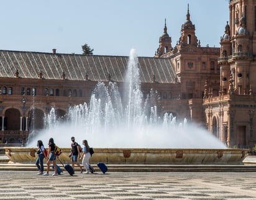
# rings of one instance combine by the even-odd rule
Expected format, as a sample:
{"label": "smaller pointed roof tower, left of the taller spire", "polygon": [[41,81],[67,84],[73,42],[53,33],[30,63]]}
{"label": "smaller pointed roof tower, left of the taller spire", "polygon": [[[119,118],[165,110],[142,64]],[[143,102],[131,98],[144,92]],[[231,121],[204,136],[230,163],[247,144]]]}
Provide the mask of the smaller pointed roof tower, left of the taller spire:
{"label": "smaller pointed roof tower, left of the taller spire", "polygon": [[163,28],[163,35],[159,37],[159,47],[155,52],[155,57],[161,57],[164,53],[168,53],[172,50],[171,37],[167,34],[167,24],[165,19],[165,27]]}

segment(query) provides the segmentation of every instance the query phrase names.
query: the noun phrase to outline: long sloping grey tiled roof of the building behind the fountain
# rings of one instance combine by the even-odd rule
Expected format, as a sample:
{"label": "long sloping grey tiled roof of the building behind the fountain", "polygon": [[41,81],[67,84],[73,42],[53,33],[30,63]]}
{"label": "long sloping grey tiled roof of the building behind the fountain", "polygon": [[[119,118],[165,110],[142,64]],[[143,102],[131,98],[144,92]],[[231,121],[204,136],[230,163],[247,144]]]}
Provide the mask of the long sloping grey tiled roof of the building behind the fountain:
{"label": "long sloping grey tiled roof of the building behind the fountain", "polygon": [[[168,58],[139,57],[142,83],[175,83],[175,71]],[[46,80],[61,80],[63,72],[68,80],[124,81],[129,57],[106,55],[78,55],[62,53],[17,52],[0,50],[0,78],[38,79],[42,72]]]}

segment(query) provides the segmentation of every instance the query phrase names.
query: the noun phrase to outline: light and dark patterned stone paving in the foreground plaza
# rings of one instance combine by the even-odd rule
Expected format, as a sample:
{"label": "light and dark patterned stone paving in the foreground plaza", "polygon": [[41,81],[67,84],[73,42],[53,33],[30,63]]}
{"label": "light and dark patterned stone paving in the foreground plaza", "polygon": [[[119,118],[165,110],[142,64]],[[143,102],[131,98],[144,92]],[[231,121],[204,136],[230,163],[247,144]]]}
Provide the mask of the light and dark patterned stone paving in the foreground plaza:
{"label": "light and dark patterned stone paving in the foreground plaza", "polygon": [[252,172],[51,173],[0,171],[0,199],[256,199]]}

